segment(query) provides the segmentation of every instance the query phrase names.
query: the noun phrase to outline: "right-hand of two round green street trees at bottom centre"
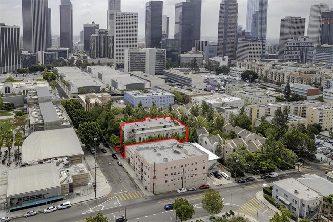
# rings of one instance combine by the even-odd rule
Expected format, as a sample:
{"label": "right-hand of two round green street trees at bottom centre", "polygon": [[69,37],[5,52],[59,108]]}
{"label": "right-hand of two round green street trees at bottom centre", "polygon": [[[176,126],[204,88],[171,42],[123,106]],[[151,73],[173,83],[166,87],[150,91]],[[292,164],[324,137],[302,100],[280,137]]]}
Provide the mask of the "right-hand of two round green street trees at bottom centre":
{"label": "right-hand of two round green street trees at bottom centre", "polygon": [[217,190],[207,190],[201,200],[202,208],[211,214],[218,214],[222,211],[224,205],[220,192]]}

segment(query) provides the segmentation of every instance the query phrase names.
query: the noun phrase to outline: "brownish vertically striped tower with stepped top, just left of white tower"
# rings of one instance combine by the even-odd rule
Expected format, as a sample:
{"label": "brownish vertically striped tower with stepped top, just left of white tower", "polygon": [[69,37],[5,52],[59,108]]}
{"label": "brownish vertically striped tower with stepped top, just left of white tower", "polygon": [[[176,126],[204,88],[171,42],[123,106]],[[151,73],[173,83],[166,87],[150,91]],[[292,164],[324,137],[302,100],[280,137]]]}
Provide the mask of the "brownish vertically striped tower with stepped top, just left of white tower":
{"label": "brownish vertically striped tower with stepped top, just left of white tower", "polygon": [[113,58],[113,35],[107,29],[98,29],[90,36],[91,58]]}

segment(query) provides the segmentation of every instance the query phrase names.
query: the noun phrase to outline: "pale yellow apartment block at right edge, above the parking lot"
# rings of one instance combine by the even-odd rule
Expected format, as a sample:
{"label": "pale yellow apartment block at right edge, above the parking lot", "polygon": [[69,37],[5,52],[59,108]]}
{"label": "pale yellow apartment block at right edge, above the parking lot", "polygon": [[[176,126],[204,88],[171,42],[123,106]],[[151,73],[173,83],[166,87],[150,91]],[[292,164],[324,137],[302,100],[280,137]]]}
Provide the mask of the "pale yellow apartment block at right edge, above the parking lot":
{"label": "pale yellow apartment block at right edge, above the parking lot", "polygon": [[306,108],[308,124],[317,123],[322,126],[323,131],[333,130],[333,107],[317,106]]}

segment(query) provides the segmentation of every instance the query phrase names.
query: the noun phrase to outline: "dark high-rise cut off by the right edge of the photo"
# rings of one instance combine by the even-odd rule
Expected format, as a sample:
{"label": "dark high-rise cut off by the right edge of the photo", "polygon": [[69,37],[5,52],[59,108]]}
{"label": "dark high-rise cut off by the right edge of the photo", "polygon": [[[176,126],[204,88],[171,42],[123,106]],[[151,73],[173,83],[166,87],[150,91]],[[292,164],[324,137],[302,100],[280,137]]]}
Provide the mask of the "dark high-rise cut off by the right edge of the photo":
{"label": "dark high-rise cut off by the right edge of the photo", "polygon": [[321,13],[320,44],[333,45],[333,11],[326,11]]}

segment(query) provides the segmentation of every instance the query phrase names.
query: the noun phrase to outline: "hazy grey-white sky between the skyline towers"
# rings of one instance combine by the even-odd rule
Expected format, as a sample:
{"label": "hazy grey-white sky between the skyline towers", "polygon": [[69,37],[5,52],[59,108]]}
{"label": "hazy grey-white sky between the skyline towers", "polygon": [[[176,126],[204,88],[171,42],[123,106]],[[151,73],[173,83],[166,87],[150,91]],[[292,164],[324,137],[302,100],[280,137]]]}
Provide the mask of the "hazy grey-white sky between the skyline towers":
{"label": "hazy grey-white sky between the skyline towers", "polygon": [[[79,35],[83,24],[95,21],[100,29],[107,28],[108,0],[71,0],[73,4],[73,32]],[[139,13],[139,36],[145,32],[145,0],[122,0],[121,10]],[[181,0],[164,0],[163,15],[169,16],[169,38],[173,38],[175,3]],[[247,0],[238,0],[238,25],[245,29]],[[217,37],[220,0],[202,0],[201,37]],[[332,7],[332,0],[268,0],[267,37],[278,38],[280,19],[285,16],[306,18],[307,29],[311,5],[326,3]],[[52,35],[58,35],[60,0],[49,0],[52,10]],[[0,0],[0,23],[22,27],[22,1]],[[22,33],[22,29],[21,29]]]}

